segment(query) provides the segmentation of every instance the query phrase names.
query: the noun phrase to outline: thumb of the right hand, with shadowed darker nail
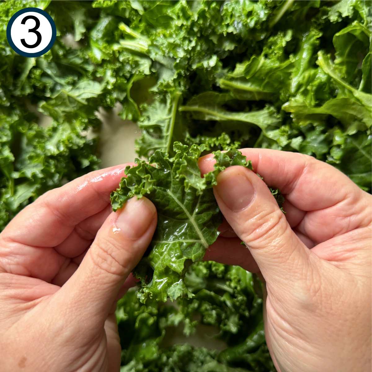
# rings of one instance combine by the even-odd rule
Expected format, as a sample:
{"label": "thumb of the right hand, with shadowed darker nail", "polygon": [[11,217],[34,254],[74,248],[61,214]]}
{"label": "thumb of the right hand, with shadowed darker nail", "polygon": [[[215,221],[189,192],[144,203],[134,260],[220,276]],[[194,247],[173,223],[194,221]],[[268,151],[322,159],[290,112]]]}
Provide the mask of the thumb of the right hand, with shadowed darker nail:
{"label": "thumb of the right hand, with shadowed darker nail", "polygon": [[295,279],[306,271],[310,251],[289,226],[267,185],[252,171],[233,166],[217,176],[215,198],[246,243],[268,282]]}

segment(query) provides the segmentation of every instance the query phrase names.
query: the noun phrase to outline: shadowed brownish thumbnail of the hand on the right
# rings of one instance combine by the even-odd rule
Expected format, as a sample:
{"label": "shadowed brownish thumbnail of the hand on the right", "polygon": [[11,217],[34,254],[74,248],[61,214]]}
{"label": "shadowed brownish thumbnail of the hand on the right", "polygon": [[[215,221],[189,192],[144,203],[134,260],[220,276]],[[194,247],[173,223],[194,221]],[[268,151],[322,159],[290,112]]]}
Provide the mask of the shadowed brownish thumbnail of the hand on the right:
{"label": "shadowed brownish thumbnail of the hand on the right", "polygon": [[246,208],[254,198],[254,187],[247,171],[243,167],[231,167],[217,176],[215,192],[233,212]]}

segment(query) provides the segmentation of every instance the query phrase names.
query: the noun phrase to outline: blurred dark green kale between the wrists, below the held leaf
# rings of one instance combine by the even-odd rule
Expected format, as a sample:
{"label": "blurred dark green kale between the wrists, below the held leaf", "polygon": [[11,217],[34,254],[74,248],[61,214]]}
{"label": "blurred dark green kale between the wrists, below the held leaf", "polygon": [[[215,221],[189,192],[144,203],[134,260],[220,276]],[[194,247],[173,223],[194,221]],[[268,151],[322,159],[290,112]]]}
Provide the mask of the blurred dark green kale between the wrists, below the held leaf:
{"label": "blurred dark green kale between the wrists, below the held leaf", "polygon": [[[257,295],[261,283],[241,267],[215,262],[194,263],[185,282],[193,297],[179,299],[177,307],[154,299],[141,304],[134,291],[119,301],[116,316],[125,364],[121,371],[274,372]],[[203,337],[205,347],[167,346],[172,330],[186,337],[200,323],[212,330]],[[224,340],[224,350],[210,350],[208,337]]]}

